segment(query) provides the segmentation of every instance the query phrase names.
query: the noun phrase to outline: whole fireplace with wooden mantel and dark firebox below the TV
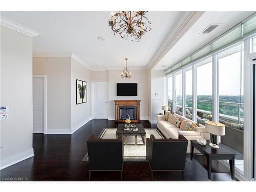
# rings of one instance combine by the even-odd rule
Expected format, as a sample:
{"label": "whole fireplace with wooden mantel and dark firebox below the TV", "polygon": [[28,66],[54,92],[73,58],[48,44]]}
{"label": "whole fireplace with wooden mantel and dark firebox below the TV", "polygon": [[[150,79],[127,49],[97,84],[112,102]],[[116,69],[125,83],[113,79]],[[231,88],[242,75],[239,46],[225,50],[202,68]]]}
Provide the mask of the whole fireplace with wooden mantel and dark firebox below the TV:
{"label": "whole fireplace with wooden mantel and dark firebox below the TV", "polygon": [[124,123],[130,115],[131,122],[140,122],[140,100],[114,100],[116,106],[116,123]]}

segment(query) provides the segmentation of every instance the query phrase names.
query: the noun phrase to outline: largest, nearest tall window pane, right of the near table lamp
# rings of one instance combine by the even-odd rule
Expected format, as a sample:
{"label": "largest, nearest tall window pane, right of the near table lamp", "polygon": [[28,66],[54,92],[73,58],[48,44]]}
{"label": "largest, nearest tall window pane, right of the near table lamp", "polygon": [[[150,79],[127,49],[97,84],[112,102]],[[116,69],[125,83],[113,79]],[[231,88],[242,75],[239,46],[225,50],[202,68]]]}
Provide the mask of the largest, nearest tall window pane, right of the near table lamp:
{"label": "largest, nearest tall window pane, right of the near table lamp", "polygon": [[[242,45],[243,47],[243,45]],[[219,122],[225,124],[221,144],[236,154],[235,165],[243,171],[244,104],[241,44],[218,54]]]}

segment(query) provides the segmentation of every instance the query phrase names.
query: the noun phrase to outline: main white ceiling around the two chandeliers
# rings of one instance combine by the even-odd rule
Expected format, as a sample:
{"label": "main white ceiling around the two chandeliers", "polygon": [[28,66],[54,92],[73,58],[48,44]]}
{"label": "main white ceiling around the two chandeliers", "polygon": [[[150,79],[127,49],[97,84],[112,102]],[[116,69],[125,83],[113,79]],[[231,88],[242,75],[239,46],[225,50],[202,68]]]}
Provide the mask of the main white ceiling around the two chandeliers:
{"label": "main white ceiling around the two chandeliers", "polygon": [[[113,35],[108,25],[110,11],[1,12],[7,19],[40,33],[33,39],[33,53],[73,53],[93,69],[121,69],[125,57],[129,58],[129,67],[145,69],[182,14],[148,12],[152,30],[136,43]],[[106,40],[98,40],[99,36]]]}

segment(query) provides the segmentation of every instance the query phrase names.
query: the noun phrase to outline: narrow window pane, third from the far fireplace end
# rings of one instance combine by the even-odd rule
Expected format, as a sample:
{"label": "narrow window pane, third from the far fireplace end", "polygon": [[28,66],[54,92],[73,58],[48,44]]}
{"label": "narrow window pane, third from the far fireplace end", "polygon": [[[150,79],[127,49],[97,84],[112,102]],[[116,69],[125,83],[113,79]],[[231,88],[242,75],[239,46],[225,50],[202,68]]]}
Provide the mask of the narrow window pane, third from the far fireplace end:
{"label": "narrow window pane, third from the far fireplace end", "polygon": [[189,67],[185,70],[185,114],[186,118],[192,119],[193,113],[193,70]]}

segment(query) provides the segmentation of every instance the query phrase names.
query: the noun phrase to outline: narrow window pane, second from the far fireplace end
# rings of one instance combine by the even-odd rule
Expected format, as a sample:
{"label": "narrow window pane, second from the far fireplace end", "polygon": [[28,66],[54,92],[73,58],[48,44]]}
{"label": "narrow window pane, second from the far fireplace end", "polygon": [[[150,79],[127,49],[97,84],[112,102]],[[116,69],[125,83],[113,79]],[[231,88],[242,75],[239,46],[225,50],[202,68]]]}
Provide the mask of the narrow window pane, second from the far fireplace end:
{"label": "narrow window pane, second from the far fireplace end", "polygon": [[175,74],[175,112],[182,115],[182,73],[179,71]]}

